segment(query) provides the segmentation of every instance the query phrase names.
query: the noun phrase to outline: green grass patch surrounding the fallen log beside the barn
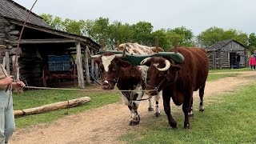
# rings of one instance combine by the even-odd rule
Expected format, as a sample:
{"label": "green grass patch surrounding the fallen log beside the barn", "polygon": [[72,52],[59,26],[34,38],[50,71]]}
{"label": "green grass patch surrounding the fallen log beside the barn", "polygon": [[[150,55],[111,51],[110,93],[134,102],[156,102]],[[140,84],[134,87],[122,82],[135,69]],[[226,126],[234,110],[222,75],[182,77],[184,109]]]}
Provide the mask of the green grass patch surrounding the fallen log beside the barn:
{"label": "green grass patch surrounding the fallen log beside the barn", "polygon": [[106,104],[121,102],[119,94],[114,92],[86,93],[76,90],[27,90],[22,94],[13,94],[14,110],[28,109],[86,96],[90,97],[91,101],[82,104],[82,106],[15,118],[16,126],[17,128],[26,128],[27,126],[33,126],[38,123],[53,122],[58,118],[64,117],[67,112],[68,114],[77,114]]}

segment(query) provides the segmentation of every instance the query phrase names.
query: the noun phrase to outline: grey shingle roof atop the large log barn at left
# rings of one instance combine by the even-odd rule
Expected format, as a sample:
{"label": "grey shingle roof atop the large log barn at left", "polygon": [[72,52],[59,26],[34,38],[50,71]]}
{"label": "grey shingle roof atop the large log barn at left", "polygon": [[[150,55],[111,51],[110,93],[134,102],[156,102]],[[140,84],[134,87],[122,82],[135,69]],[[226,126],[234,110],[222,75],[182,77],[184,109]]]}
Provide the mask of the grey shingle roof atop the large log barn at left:
{"label": "grey shingle roof atop the large log barn at left", "polygon": [[[0,15],[4,18],[12,18],[24,22],[29,11],[12,0],[0,0]],[[50,27],[40,16],[34,13],[30,13],[27,22],[38,26]]]}

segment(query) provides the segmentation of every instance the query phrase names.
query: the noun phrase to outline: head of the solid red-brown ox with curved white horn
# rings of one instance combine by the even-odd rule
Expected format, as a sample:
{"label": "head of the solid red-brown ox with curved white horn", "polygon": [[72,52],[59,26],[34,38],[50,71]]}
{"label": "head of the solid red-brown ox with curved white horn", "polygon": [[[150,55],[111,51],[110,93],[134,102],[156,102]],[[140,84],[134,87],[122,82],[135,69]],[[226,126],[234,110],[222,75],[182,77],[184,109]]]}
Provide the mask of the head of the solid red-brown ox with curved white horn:
{"label": "head of the solid red-brown ox with curved white horn", "polygon": [[162,57],[145,58],[141,65],[149,66],[147,71],[146,94],[155,95],[167,86],[168,83],[175,82],[178,70],[181,67],[175,66],[172,60]]}

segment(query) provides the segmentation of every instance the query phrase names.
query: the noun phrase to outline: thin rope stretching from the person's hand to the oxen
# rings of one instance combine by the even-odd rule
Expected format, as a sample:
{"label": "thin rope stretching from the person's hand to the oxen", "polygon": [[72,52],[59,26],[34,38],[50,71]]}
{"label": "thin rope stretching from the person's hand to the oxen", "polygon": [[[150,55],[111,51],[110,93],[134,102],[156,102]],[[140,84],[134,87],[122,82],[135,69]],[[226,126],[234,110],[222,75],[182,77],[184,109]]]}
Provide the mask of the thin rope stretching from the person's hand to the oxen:
{"label": "thin rope stretching from the person's hand to the oxen", "polygon": [[136,92],[136,91],[155,91],[155,90],[85,90],[85,89],[69,89],[69,88],[54,88],[54,87],[37,87],[37,86],[25,86],[26,89],[38,89],[38,90],[78,90],[78,91],[111,91],[111,92]]}

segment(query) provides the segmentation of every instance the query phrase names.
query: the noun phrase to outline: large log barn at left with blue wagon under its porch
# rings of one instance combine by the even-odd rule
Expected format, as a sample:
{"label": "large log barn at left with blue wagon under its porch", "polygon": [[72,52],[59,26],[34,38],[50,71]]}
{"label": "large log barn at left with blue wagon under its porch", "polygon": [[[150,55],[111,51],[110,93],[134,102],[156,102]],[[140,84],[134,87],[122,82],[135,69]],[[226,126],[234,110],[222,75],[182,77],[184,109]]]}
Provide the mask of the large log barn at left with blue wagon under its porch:
{"label": "large log barn at left with blue wagon under its porch", "polygon": [[0,61],[7,72],[28,86],[47,86],[48,81],[57,80],[56,75],[76,78],[82,88],[89,84],[89,64],[94,62],[88,62],[85,48],[88,46],[95,54],[101,46],[89,37],[54,30],[31,13],[19,43],[21,49],[17,49],[28,13],[29,10],[12,0],[0,0],[0,46],[6,47],[1,51]]}

